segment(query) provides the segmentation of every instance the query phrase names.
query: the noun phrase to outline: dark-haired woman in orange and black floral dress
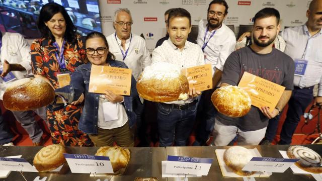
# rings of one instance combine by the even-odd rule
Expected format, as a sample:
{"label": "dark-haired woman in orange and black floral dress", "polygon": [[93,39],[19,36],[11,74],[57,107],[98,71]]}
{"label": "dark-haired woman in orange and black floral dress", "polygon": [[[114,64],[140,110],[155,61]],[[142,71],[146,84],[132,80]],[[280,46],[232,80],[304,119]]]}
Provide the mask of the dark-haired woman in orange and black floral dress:
{"label": "dark-haired woman in orange and black floral dress", "polygon": [[[68,84],[58,78],[69,79],[69,74],[85,60],[84,40],[76,35],[64,7],[49,3],[42,7],[38,19],[41,39],[31,45],[32,68],[35,77],[47,81],[53,88]],[[54,144],[65,146],[91,146],[88,135],[78,130],[81,104],[84,96],[56,109],[47,109],[48,126]]]}

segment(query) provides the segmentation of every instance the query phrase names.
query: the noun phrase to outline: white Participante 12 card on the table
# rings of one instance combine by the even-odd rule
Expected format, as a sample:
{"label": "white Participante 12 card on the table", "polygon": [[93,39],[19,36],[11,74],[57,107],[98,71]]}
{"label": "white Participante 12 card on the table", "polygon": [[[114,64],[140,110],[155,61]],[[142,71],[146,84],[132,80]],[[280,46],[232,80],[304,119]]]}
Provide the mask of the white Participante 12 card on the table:
{"label": "white Participante 12 card on the table", "polygon": [[253,157],[242,170],[283,173],[299,159]]}

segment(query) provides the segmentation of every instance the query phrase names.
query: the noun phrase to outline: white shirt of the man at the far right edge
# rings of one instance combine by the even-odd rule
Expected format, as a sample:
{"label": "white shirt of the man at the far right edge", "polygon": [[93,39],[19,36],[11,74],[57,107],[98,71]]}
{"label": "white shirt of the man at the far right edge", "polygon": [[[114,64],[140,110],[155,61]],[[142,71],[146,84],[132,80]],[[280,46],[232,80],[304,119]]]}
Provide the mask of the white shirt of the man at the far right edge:
{"label": "white shirt of the man at the far right edge", "polygon": [[308,61],[303,76],[294,75],[294,86],[300,88],[318,86],[318,96],[322,96],[322,32],[311,36],[307,26],[297,26],[286,28],[281,32],[281,36],[286,42],[284,53],[294,59],[301,59],[304,54],[304,60]]}

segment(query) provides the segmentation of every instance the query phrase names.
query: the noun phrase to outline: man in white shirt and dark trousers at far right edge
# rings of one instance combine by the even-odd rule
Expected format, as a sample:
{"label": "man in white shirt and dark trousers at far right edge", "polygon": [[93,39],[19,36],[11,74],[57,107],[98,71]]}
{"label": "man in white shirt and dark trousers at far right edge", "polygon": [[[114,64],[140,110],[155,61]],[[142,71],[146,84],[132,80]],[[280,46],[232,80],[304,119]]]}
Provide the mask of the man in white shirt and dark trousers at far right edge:
{"label": "man in white shirt and dark trousers at far right edge", "polygon": [[291,144],[300,117],[313,100],[315,84],[318,84],[318,94],[313,104],[322,105],[322,0],[310,3],[306,17],[306,24],[287,28],[281,33],[286,42],[284,53],[295,62],[295,74],[279,144]]}

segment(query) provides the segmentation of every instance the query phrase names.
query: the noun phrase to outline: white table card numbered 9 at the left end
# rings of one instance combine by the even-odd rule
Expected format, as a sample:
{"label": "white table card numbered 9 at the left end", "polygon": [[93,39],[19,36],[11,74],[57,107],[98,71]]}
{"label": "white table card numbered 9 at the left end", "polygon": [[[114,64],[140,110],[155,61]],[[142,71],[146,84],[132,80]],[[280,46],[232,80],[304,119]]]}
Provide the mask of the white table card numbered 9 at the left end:
{"label": "white table card numbered 9 at the left end", "polygon": [[26,159],[8,157],[0,157],[0,170],[38,172]]}

